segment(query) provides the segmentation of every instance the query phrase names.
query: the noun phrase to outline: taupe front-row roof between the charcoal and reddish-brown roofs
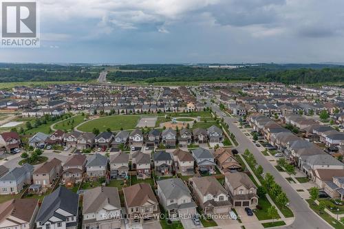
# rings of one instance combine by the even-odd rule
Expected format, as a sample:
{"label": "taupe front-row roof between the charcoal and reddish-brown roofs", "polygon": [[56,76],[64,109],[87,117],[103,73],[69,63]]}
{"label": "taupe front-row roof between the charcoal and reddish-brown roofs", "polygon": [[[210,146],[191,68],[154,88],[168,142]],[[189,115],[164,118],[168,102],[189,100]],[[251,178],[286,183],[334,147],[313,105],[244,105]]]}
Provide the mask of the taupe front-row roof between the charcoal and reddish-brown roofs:
{"label": "taupe front-row roof between the charcoal and reddish-brown roofs", "polygon": [[83,214],[98,212],[101,206],[111,204],[120,209],[120,196],[115,187],[96,187],[85,190],[83,196]]}

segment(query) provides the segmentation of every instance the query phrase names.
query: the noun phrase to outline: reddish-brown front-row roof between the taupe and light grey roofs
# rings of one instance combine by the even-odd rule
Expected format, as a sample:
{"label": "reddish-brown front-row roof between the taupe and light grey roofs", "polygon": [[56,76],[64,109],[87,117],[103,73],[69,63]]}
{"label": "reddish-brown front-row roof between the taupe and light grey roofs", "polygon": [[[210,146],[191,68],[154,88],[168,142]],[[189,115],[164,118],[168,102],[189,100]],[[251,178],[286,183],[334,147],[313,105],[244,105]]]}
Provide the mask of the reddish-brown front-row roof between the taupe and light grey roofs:
{"label": "reddish-brown front-row roof between the taupe and light grey roofs", "polygon": [[123,193],[125,195],[125,204],[127,208],[142,206],[147,201],[153,201],[158,203],[151,186],[147,183],[139,183],[123,188]]}

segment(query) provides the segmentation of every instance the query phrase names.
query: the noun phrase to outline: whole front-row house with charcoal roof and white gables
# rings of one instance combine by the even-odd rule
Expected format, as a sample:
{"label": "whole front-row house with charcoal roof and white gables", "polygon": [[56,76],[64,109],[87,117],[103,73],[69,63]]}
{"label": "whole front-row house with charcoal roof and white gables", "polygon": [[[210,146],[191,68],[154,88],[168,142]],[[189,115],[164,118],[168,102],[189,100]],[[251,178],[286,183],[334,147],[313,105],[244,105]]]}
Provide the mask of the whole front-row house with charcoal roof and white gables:
{"label": "whole front-row house with charcoal roof and white gables", "polygon": [[36,219],[38,229],[78,228],[78,194],[59,186],[45,196]]}

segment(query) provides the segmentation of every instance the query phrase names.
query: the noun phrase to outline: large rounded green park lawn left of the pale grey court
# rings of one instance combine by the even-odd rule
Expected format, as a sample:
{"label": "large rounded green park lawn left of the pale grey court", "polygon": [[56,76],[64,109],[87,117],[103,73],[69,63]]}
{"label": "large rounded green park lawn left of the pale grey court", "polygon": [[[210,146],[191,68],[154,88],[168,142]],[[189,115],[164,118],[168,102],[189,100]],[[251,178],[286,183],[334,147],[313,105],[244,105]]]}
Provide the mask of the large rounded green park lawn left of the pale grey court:
{"label": "large rounded green park lawn left of the pale grey court", "polygon": [[111,131],[119,131],[121,128],[135,129],[139,119],[140,116],[131,115],[107,116],[105,118],[98,118],[89,122],[85,122],[78,127],[78,130],[92,132],[94,127],[98,128],[100,132],[106,131],[108,128],[110,128]]}

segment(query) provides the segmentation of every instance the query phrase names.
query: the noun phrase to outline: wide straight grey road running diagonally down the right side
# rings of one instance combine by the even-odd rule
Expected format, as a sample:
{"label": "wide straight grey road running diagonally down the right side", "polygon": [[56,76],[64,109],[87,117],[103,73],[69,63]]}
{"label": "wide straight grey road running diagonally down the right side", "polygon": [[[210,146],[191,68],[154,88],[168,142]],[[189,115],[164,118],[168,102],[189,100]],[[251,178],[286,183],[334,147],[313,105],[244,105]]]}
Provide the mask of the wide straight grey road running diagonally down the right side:
{"label": "wide straight grey road running diagonally down the right side", "polygon": [[[222,113],[219,108],[214,105],[210,105],[213,111],[217,114]],[[329,224],[323,221],[316,213],[309,208],[308,204],[303,200],[296,190],[290,186],[290,184],[284,179],[281,174],[268,162],[266,157],[257,149],[255,144],[253,144],[244,133],[237,127],[234,123],[235,118],[230,118],[228,116],[224,117],[224,121],[228,123],[230,131],[235,135],[239,146],[237,147],[239,153],[244,153],[245,149],[248,149],[257,160],[257,164],[260,164],[264,168],[264,173],[270,173],[275,177],[275,181],[281,186],[281,188],[286,192],[288,198],[290,199],[290,208],[294,212],[295,220],[289,226],[283,228],[294,228],[294,229],[314,229],[314,228],[331,228]]]}

